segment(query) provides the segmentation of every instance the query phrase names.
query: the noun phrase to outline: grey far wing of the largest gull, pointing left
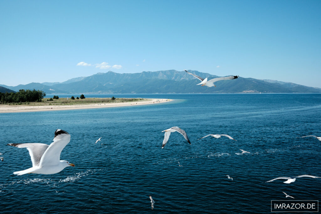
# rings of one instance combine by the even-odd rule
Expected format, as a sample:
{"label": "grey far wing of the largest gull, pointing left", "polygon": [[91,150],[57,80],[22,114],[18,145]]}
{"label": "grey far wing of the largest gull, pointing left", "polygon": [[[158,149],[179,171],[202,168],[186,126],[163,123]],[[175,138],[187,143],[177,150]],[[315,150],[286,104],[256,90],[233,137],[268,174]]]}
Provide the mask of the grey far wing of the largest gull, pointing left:
{"label": "grey far wing of the largest gull, pointing left", "polygon": [[44,143],[8,143],[7,145],[18,148],[27,148],[31,158],[32,167],[39,166],[40,159],[49,146]]}

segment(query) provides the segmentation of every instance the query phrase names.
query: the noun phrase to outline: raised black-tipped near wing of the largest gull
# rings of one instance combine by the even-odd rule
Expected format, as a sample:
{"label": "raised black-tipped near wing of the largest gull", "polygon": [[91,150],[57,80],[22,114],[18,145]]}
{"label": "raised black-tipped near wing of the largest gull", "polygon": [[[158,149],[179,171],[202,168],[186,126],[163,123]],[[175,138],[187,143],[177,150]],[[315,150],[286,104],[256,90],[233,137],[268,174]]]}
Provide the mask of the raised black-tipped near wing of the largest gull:
{"label": "raised black-tipped near wing of the largest gull", "polygon": [[48,149],[42,155],[39,166],[52,165],[54,162],[60,161],[60,153],[70,141],[70,134],[64,130],[57,129],[54,141],[49,145]]}

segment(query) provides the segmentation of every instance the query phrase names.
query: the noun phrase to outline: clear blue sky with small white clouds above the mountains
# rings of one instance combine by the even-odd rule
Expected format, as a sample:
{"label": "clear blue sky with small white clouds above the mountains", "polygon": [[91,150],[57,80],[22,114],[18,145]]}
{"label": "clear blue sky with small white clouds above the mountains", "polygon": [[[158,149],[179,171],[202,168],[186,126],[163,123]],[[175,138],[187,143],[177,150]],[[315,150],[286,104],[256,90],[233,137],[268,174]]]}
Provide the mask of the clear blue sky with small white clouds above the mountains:
{"label": "clear blue sky with small white clouds above the mountains", "polygon": [[0,84],[190,69],[321,88],[320,41],[320,0],[0,0]]}

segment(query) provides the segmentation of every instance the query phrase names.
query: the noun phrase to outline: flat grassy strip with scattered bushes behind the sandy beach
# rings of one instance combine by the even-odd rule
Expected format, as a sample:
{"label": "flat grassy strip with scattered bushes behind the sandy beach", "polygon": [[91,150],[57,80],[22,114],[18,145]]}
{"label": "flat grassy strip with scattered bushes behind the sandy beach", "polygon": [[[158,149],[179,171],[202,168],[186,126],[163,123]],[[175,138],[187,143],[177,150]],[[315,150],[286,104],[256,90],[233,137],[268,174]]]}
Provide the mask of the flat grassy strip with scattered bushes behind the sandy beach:
{"label": "flat grassy strip with scattered bushes behind the sandy beach", "polygon": [[85,105],[93,103],[126,103],[126,102],[141,102],[147,101],[146,98],[84,98],[84,99],[71,99],[59,98],[49,101],[49,98],[44,98],[41,102],[25,102],[25,103],[6,103],[6,105],[28,105],[28,106],[44,106],[44,105]]}

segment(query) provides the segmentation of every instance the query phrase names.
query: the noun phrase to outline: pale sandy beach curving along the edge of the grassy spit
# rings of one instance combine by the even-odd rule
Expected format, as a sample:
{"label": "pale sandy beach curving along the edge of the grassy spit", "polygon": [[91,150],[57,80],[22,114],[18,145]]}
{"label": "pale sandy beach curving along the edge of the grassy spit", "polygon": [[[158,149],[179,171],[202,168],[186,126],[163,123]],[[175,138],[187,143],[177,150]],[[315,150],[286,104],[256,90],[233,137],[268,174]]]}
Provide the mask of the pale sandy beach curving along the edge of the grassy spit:
{"label": "pale sandy beach curving along the edge of the grassy spit", "polygon": [[160,104],[170,102],[172,99],[148,99],[134,102],[122,103],[92,103],[83,105],[41,105],[41,106],[28,106],[28,105],[0,105],[0,113],[15,113],[15,112],[33,112],[33,111],[57,111],[57,110],[74,110],[86,108],[108,108],[108,107],[123,107],[123,106],[140,106],[150,104]]}

